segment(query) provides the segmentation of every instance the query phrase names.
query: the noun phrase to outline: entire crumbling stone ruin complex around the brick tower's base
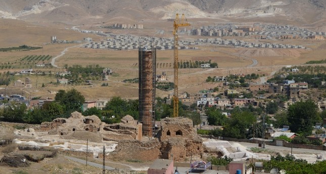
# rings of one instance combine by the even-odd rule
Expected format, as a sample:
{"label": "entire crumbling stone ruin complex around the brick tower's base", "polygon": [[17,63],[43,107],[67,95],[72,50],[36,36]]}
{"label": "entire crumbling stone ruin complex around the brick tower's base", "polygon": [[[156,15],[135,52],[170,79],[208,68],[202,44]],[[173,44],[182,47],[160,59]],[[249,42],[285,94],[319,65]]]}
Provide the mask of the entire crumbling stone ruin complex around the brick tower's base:
{"label": "entire crumbling stone ruin complex around the brick tower's base", "polygon": [[202,138],[189,118],[164,118],[155,138],[143,137],[142,124],[126,115],[120,123],[106,124],[96,115],[71,113],[69,118],[56,118],[41,123],[41,131],[60,135],[62,139],[92,142],[116,141],[118,145],[107,158],[115,160],[154,161],[157,158],[184,161],[203,156]]}

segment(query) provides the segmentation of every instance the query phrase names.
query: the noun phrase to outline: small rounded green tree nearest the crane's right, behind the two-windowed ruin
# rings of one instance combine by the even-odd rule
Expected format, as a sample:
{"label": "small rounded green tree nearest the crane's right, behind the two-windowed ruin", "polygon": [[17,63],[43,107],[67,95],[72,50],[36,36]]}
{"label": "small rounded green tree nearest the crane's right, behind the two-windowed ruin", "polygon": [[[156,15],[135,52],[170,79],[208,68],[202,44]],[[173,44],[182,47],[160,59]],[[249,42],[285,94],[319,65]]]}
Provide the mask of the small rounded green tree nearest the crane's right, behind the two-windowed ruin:
{"label": "small rounded green tree nearest the crane's right, behind the two-windowed ruin", "polygon": [[224,125],[226,123],[227,118],[219,109],[210,107],[206,110],[206,115],[210,125]]}

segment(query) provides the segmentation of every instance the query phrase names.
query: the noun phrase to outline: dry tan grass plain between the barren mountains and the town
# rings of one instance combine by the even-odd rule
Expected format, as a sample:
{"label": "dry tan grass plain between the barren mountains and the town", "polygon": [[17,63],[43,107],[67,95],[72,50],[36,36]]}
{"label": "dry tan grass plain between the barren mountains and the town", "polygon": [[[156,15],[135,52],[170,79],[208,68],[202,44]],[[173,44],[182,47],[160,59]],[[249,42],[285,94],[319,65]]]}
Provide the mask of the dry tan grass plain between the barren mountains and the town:
{"label": "dry tan grass plain between the barren mountains and the town", "polygon": [[[210,20],[208,23],[212,22]],[[22,44],[40,46],[44,42],[50,41],[51,35],[56,35],[59,39],[66,40],[80,40],[83,37],[92,37],[95,40],[99,40],[100,36],[78,33],[65,29],[58,29],[54,27],[46,27],[41,25],[30,24],[27,22],[19,20],[3,20],[0,19],[0,29],[4,29],[6,32],[0,33],[0,38],[4,38],[3,47],[5,46],[18,46]],[[154,36],[162,37],[172,37],[172,27],[169,22],[149,22],[153,29],[144,29],[143,33],[139,33],[139,30],[112,30],[112,32],[121,33],[131,33],[135,35],[146,35],[152,34]],[[203,25],[203,23],[197,23]],[[196,24],[194,24],[196,25]],[[61,25],[62,26],[62,25]],[[86,26],[85,26],[86,27]],[[155,34],[157,29],[163,29],[165,35]],[[96,26],[93,28],[98,30]],[[22,32],[22,31],[25,32]],[[106,31],[106,29],[103,29]],[[6,34],[4,34],[6,33]],[[18,33],[18,34],[16,34]],[[21,35],[24,34],[24,36]],[[35,37],[37,33],[37,37]],[[12,39],[15,37],[16,39]],[[24,38],[24,39],[22,39]],[[198,36],[185,36],[180,35],[180,39],[188,38],[198,38]],[[238,38],[236,38],[238,39]],[[252,40],[245,38],[247,41],[261,42],[261,40]],[[11,40],[11,41],[8,41]],[[300,50],[300,49],[246,49],[246,48],[233,48],[233,47],[223,47],[223,46],[199,46],[200,50],[180,50],[179,51],[179,61],[193,61],[196,60],[212,60],[217,62],[219,68],[216,69],[179,69],[179,93],[182,92],[198,92],[201,89],[214,88],[217,83],[207,83],[205,79],[207,76],[221,76],[228,74],[237,73],[258,73],[260,75],[267,75],[271,70],[275,70],[282,65],[299,65],[310,60],[321,60],[324,59],[324,52],[326,49],[325,43],[322,40],[303,40],[303,39],[285,39],[282,40],[263,40],[263,42],[273,42],[273,43],[284,43],[293,45],[303,45],[311,49]],[[0,47],[2,46],[0,44]],[[44,45],[43,49],[27,51],[27,52],[0,52],[0,63],[5,63],[17,60],[19,58],[25,57],[26,55],[51,55],[56,56],[61,53],[65,48],[75,46],[74,44],[55,44],[55,45]],[[313,51],[312,51],[313,49]],[[211,50],[215,50],[211,52]],[[233,55],[232,55],[233,54]],[[252,68],[246,68],[250,65],[252,61],[248,59],[238,59],[239,56],[246,56],[249,58],[254,58],[258,61],[258,65]],[[157,51],[157,74],[161,74],[165,71],[169,81],[173,81],[173,51]],[[13,89],[12,91],[7,89],[8,94],[20,94],[32,98],[32,97],[50,97],[54,98],[55,93],[50,93],[49,91],[58,91],[60,89],[68,90],[70,88],[75,88],[85,96],[87,100],[101,100],[108,99],[113,96],[121,96],[123,98],[137,98],[138,97],[138,85],[132,83],[121,82],[127,78],[137,78],[138,76],[138,53],[137,50],[131,51],[115,51],[115,50],[104,50],[104,49],[84,49],[84,48],[71,48],[66,53],[66,55],[57,59],[56,64],[63,67],[65,64],[74,65],[79,64],[86,66],[89,64],[99,64],[102,67],[112,68],[117,74],[116,76],[110,76],[109,81],[94,81],[94,85],[57,85],[50,84],[50,82],[56,82],[55,76],[29,76],[32,80],[33,89]],[[165,64],[165,66],[160,66]],[[62,68],[36,68],[34,65],[22,65],[16,69],[11,69],[10,71],[18,71],[21,68],[33,68],[37,71],[45,72],[56,72],[63,71]],[[0,70],[1,71],[1,70]],[[8,70],[2,70],[8,71]],[[25,75],[15,76],[14,80],[20,79],[24,80]],[[108,86],[101,86],[105,82]],[[45,88],[41,88],[42,83],[44,83]],[[9,85],[13,88],[13,85]],[[3,94],[4,90],[0,90]],[[166,97],[170,92],[164,92],[157,90],[158,97]]]}

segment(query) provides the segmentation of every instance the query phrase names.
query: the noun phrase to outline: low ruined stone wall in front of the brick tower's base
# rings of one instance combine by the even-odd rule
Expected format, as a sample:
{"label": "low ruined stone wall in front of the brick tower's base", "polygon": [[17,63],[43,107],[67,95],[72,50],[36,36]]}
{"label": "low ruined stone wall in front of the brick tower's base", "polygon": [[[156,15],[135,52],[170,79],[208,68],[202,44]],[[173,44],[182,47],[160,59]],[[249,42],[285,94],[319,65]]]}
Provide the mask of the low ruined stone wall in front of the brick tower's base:
{"label": "low ruined stone wall in front of the brick tower's base", "polygon": [[161,143],[157,139],[146,142],[120,141],[108,159],[154,161],[160,156],[160,147]]}

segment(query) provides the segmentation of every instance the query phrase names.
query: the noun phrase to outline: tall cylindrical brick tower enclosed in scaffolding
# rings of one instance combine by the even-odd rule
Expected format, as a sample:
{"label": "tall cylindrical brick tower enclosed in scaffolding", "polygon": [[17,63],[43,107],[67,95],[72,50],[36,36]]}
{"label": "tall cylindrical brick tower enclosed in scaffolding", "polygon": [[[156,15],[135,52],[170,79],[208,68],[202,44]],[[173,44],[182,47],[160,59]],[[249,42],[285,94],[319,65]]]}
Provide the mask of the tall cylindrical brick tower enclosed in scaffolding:
{"label": "tall cylindrical brick tower enclosed in scaffolding", "polygon": [[139,48],[138,66],[139,121],[143,123],[143,136],[154,137],[156,49]]}

